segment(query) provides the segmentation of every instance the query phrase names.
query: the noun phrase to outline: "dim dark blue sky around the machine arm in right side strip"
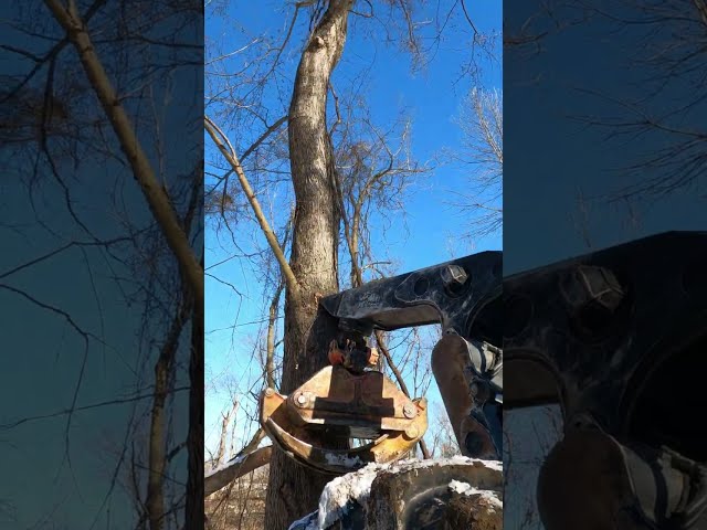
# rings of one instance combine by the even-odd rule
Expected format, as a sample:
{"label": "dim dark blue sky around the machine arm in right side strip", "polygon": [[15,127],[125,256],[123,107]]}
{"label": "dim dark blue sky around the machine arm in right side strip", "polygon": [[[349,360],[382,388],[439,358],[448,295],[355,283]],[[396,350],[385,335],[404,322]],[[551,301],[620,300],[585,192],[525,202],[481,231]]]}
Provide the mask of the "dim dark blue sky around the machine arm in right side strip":
{"label": "dim dark blue sky around the machine arm in right side strip", "polygon": [[[504,2],[505,275],[705,230],[705,20],[700,2]],[[505,425],[505,523],[542,528],[534,486],[560,410]]]}

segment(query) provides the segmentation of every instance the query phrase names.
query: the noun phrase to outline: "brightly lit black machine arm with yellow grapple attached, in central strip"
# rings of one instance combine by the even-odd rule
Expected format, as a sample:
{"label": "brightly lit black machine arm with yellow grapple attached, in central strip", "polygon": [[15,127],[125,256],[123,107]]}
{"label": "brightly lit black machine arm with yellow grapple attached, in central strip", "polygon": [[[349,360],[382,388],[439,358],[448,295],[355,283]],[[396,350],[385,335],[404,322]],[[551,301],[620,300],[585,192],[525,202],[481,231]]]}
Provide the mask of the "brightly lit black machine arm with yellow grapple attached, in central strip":
{"label": "brightly lit black machine arm with yellow grapple attached, in central strip", "polygon": [[302,465],[333,475],[413,451],[428,428],[426,400],[408,398],[372,369],[378,352],[367,338],[376,329],[440,324],[432,369],[461,451],[499,459],[503,354],[492,344],[502,335],[500,258],[484,252],[323,298],[321,307],[338,319],[327,351],[331,365],[289,395],[263,392],[260,421],[273,443]]}

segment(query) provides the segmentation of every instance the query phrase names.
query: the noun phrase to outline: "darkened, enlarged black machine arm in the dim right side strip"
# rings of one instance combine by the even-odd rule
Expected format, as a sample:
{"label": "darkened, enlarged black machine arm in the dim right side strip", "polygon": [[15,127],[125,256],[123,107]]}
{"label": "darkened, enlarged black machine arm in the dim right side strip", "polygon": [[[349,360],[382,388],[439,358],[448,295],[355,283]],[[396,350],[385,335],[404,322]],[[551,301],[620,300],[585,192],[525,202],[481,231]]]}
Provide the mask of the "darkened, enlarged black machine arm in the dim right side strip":
{"label": "darkened, enlarged black machine arm in the dim right side strip", "polygon": [[504,280],[504,406],[557,404],[563,425],[544,528],[707,528],[706,248],[667,232]]}

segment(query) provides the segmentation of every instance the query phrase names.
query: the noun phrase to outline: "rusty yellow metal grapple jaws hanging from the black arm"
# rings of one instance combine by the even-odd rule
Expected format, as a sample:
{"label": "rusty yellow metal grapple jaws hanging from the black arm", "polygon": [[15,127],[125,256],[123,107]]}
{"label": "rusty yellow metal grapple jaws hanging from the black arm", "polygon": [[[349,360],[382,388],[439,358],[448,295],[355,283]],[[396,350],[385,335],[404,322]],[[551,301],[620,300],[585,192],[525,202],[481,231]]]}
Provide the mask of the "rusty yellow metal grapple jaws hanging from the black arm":
{"label": "rusty yellow metal grapple jaws hanging from the black arm", "polygon": [[[260,421],[295,460],[341,475],[409,453],[428,428],[426,410],[424,398],[408,399],[381,372],[351,373],[337,365],[324,368],[288,396],[266,389]],[[352,438],[370,442],[350,447]]]}

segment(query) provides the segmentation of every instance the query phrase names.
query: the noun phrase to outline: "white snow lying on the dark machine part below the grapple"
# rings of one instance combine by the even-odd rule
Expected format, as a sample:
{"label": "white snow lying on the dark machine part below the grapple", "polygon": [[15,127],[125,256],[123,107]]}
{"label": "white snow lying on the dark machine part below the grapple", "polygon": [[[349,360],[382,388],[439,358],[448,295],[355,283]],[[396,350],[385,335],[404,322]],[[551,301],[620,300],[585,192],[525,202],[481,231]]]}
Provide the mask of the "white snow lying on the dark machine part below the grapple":
{"label": "white snow lying on the dark machine part below the grapple", "polygon": [[[321,530],[335,523],[346,512],[346,505],[349,502],[349,500],[355,500],[359,505],[365,506],[371,489],[371,484],[378,476],[378,473],[382,469],[386,469],[390,473],[400,473],[421,467],[455,464],[483,465],[484,467],[503,471],[503,463],[499,460],[481,460],[478,458],[468,458],[466,456],[452,456],[450,458],[439,458],[430,460],[419,460],[415,458],[411,458],[407,460],[399,460],[392,464],[368,464],[366,467],[359,469],[358,471],[337,477],[326,485],[324,491],[321,492],[321,497],[319,497],[319,510],[317,515],[318,527],[315,527],[314,530]],[[469,488],[472,487],[471,485],[467,486]],[[476,491],[481,492],[481,490]],[[488,492],[484,491],[484,494]],[[496,506],[496,501],[500,502],[500,499],[494,497],[494,500],[492,500],[494,506]],[[503,507],[503,504],[498,506]],[[310,529],[307,527],[307,530]]]}

